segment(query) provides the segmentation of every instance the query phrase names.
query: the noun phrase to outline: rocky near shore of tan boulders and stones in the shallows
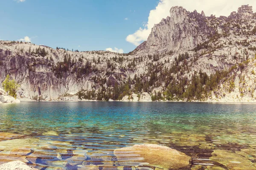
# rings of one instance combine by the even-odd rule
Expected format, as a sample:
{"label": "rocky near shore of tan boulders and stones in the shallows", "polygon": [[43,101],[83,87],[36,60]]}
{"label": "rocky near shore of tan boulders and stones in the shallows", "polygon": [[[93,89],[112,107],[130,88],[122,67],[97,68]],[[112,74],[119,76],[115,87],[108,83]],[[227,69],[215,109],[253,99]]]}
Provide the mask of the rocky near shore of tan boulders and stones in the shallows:
{"label": "rocky near shore of tan boulders and stones in the shallows", "polygon": [[[55,131],[48,131],[42,136],[57,137],[59,134]],[[201,138],[198,140],[196,138],[195,141],[204,142]],[[44,170],[70,168],[74,170],[105,170],[108,168],[111,170],[126,170],[127,168],[133,170],[256,170],[256,165],[253,163],[256,159],[255,149],[241,149],[235,152],[216,149],[211,151],[209,159],[191,157],[159,144],[135,144],[117,148],[113,152],[104,149],[99,151],[74,148],[70,142],[47,141],[15,133],[0,133],[0,170],[42,168]],[[42,158],[48,161],[40,164]],[[103,161],[104,166],[108,168],[93,163],[97,160]]]}

